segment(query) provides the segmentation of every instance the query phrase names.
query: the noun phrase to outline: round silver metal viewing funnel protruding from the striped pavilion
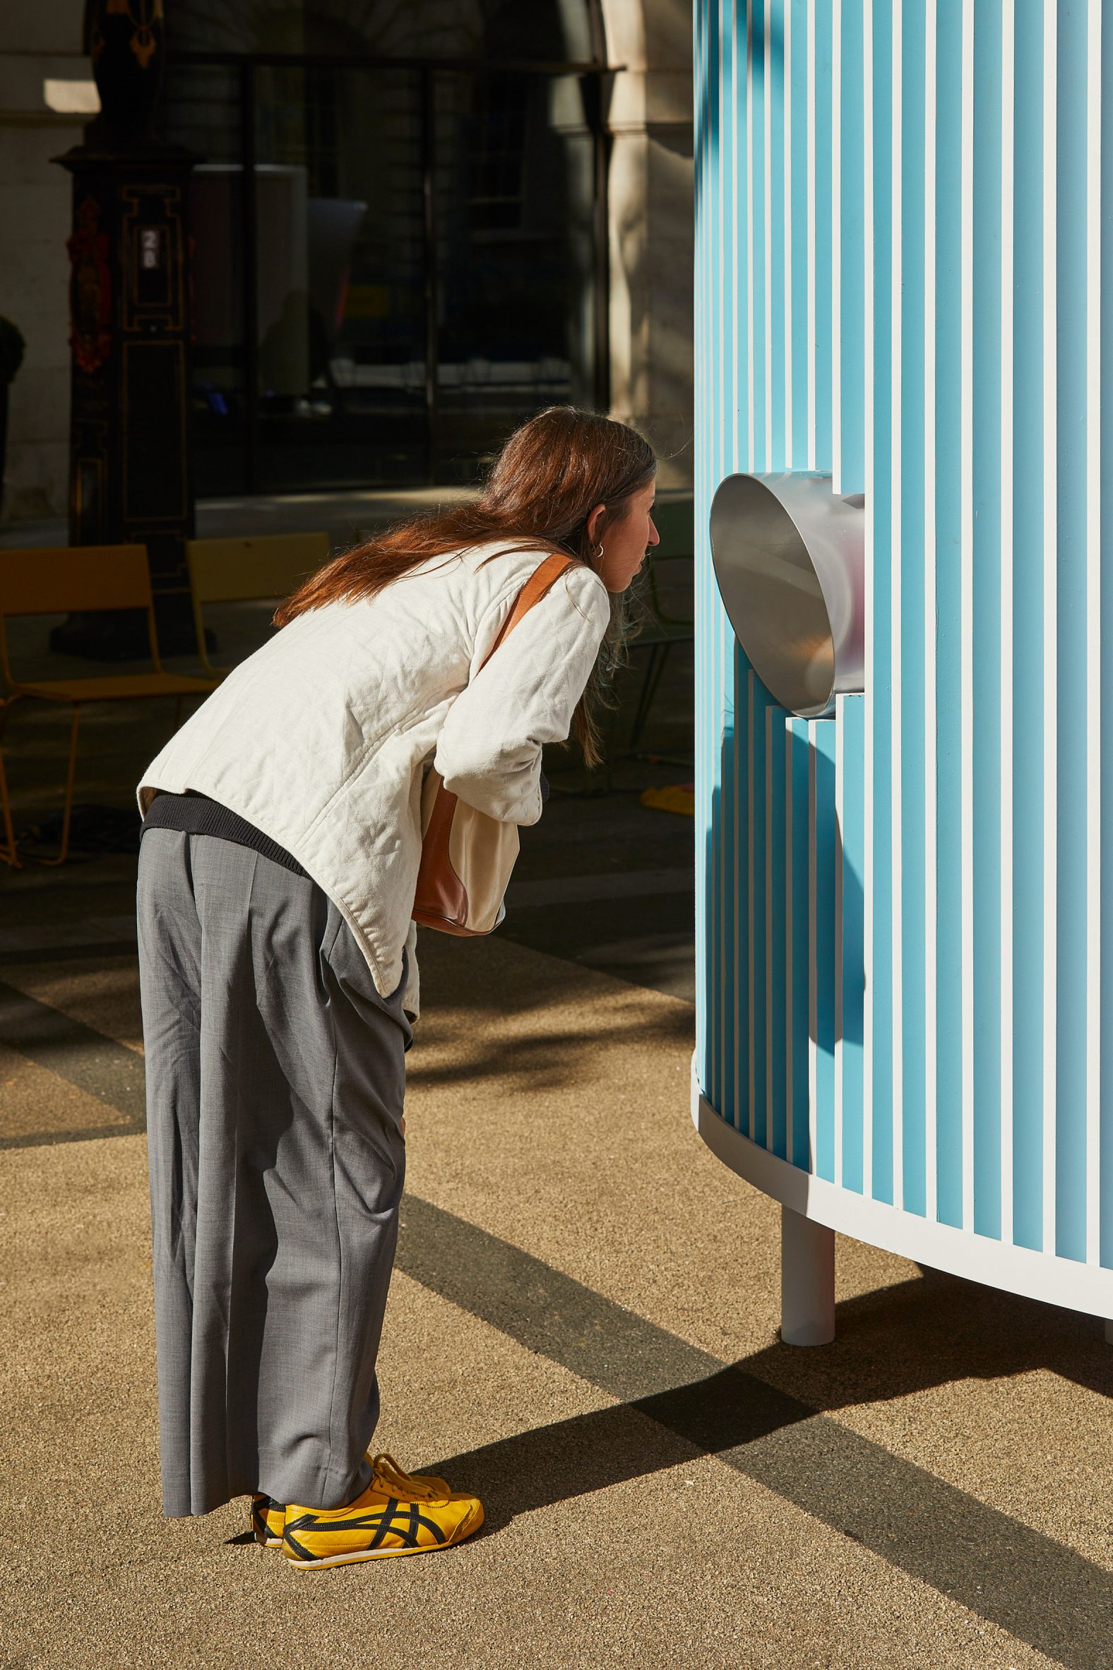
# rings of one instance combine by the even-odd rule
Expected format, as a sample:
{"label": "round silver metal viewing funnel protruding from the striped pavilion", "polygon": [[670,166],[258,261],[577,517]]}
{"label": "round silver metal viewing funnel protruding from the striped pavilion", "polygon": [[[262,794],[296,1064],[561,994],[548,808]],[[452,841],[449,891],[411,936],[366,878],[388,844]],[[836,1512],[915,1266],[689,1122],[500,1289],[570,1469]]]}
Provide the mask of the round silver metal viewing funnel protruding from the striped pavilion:
{"label": "round silver metal viewing funnel protruding from the striped pavilion", "polygon": [[726,476],[711,504],[711,558],[731,626],[774,700],[801,718],[864,690],[864,498],[831,476]]}

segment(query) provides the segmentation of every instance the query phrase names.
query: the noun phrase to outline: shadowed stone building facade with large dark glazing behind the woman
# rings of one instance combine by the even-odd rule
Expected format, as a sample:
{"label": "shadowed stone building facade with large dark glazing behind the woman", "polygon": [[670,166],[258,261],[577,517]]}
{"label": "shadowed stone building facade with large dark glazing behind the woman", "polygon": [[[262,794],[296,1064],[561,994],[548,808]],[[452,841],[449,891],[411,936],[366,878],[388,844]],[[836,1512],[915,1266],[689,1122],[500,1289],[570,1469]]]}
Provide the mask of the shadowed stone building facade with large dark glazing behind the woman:
{"label": "shadowed stone building facade with large dark glazing behind the woman", "polygon": [[[564,401],[641,423],[682,484],[689,27],[687,0],[167,0],[197,494],[469,481]],[[7,519],[65,504],[50,157],[95,110],[80,45],[80,0],[0,18],[0,312],[28,341]]]}

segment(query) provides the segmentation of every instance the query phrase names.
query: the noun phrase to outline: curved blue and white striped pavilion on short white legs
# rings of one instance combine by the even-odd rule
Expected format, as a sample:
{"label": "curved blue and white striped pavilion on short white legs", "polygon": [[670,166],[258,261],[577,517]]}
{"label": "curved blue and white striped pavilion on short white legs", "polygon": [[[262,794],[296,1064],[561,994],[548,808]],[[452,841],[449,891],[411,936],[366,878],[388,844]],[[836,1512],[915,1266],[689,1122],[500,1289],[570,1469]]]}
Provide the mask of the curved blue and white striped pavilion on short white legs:
{"label": "curved blue and white striped pavilion on short white legs", "polygon": [[[804,1309],[839,1229],[1113,1316],[1101,12],[696,0],[694,1114],[788,1207]],[[826,720],[709,561],[721,479],[781,469],[866,494],[866,690]]]}

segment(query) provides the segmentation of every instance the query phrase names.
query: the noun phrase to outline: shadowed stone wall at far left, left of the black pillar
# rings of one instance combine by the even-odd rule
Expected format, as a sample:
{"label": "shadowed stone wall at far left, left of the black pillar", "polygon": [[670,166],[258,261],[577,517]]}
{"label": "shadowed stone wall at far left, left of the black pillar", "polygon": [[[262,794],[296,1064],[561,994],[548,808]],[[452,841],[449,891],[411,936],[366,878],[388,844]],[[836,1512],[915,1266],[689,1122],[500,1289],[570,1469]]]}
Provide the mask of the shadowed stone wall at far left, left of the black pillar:
{"label": "shadowed stone wall at far left, left of the black pillar", "polygon": [[80,0],[0,5],[0,314],[27,337],[12,384],[5,521],[65,514],[70,428],[70,175],[52,164],[82,119],[47,109],[43,80],[88,78]]}

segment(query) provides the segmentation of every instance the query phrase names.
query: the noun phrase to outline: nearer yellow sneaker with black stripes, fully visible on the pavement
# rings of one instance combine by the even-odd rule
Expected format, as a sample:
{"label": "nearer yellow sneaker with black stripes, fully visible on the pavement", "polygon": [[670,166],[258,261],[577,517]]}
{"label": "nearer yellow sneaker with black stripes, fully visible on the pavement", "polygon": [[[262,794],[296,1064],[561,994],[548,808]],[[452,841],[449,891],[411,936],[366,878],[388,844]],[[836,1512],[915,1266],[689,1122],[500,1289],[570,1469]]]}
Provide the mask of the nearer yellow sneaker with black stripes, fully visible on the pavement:
{"label": "nearer yellow sneaker with black stripes, fully visible on the pavement", "polygon": [[374,1478],[347,1508],[287,1506],[282,1553],[299,1571],[390,1555],[426,1555],[462,1543],[482,1525],[482,1503],[442,1478],[404,1473],[375,1456]]}

